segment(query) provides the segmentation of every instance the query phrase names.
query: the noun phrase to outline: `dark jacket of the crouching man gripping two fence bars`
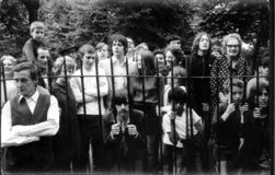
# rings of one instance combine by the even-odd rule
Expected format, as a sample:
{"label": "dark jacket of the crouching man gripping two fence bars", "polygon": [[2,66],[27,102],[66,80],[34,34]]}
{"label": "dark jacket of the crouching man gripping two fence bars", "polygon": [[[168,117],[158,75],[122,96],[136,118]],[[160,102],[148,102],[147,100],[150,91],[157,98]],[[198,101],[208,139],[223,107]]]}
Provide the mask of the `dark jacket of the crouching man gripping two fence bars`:
{"label": "dark jacket of the crouching man gripping two fence bars", "polygon": [[130,115],[131,125],[136,125],[138,136],[129,136],[127,128],[125,132],[118,136],[115,136],[114,139],[111,137],[112,125],[115,124],[113,112],[107,112],[103,116],[103,136],[104,136],[104,145],[108,153],[110,166],[115,165],[121,166],[125,170],[130,170],[133,165],[135,166],[136,161],[142,160],[145,151],[145,122],[144,122],[144,113],[133,109]]}

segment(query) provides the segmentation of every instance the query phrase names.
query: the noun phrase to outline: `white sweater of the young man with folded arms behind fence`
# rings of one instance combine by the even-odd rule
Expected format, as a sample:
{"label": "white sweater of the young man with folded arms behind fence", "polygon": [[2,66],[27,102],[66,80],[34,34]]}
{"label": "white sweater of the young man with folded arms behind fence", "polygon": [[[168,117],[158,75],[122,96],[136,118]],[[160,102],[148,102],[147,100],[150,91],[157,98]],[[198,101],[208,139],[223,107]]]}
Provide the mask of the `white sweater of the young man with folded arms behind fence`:
{"label": "white sweater of the young man with folded arms behind fence", "polygon": [[[101,114],[103,115],[105,113],[105,108],[103,105],[103,96],[107,95],[108,93],[108,83],[107,79],[105,77],[105,72],[103,69],[99,68],[99,88],[100,88],[100,94],[98,94],[98,83],[96,83],[96,72],[95,67],[92,68],[91,71],[87,71],[83,68],[83,86],[84,86],[84,98],[85,98],[85,113],[83,105],[80,106],[78,109],[78,114],[87,114],[87,115],[100,115],[99,110],[99,97],[101,96]],[[81,83],[81,71],[77,70],[71,80],[70,85],[72,93],[76,97],[76,101],[78,103],[83,103],[83,94],[82,94],[82,83]]]}

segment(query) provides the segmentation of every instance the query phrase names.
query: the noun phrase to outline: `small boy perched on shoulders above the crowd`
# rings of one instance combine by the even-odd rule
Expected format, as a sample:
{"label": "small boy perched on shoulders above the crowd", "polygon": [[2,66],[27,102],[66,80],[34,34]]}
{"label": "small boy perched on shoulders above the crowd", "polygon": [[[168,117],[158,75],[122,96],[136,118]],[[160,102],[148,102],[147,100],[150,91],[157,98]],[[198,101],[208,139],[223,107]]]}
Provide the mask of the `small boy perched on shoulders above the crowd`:
{"label": "small boy perched on shoulders above the crowd", "polygon": [[37,61],[37,48],[44,46],[44,32],[45,25],[41,21],[32,22],[31,24],[31,38],[26,40],[23,46],[23,56],[31,62]]}

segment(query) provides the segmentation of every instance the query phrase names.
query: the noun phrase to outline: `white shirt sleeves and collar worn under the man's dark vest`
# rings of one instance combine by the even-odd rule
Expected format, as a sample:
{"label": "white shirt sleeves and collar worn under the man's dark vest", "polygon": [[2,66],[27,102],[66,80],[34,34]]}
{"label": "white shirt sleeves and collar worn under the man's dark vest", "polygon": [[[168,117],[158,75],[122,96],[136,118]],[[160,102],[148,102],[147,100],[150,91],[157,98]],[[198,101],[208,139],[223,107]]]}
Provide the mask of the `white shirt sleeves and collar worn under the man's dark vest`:
{"label": "white shirt sleeves and collar worn under the man's dark vest", "polygon": [[[26,104],[32,113],[34,112],[38,96],[39,93],[36,90],[31,97],[26,98]],[[20,96],[19,102],[22,97]],[[1,116],[1,148],[38,141],[41,136],[54,136],[59,129],[59,107],[56,97],[53,95],[50,95],[47,121],[27,126],[12,126],[10,101],[4,104]]]}

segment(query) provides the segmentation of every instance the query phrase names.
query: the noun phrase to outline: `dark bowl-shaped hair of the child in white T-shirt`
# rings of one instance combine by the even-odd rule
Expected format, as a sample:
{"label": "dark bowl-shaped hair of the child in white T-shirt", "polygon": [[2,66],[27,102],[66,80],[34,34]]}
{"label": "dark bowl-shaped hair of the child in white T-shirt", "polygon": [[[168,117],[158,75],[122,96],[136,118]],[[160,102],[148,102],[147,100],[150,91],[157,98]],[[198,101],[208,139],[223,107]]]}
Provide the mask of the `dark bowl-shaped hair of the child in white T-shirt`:
{"label": "dark bowl-shaped hair of the child in white T-shirt", "polygon": [[172,101],[174,103],[185,104],[187,101],[186,92],[180,86],[176,86],[173,90],[171,89],[168,93],[168,102],[172,103]]}

